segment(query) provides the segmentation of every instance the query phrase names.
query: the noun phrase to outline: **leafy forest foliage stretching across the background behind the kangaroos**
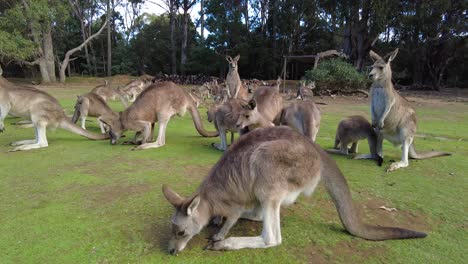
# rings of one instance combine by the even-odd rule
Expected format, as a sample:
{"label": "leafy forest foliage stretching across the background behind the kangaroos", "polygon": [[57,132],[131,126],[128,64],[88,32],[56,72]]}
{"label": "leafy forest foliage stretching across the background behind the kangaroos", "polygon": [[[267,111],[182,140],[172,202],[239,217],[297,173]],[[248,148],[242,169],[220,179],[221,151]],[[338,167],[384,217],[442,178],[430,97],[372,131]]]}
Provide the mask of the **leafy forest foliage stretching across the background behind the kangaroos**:
{"label": "leafy forest foliage stretching across the background behind the kangaroos", "polygon": [[[80,44],[83,26],[85,35],[96,32],[107,4],[107,0],[72,0],[79,6],[77,11],[68,1],[25,2],[29,8],[24,8],[19,0],[0,3],[3,62],[37,57],[33,47],[40,47],[39,40],[49,30],[54,55],[61,58],[68,49]],[[459,67],[468,54],[466,1],[204,0],[203,10],[198,11],[204,14],[206,34],[201,39],[195,30],[202,25],[201,18],[190,19],[185,66],[181,65],[184,19],[175,14],[173,46],[167,21],[168,4],[181,7],[184,1],[158,1],[166,8],[160,15],[142,14],[144,2],[112,1],[113,74],[170,73],[177,69],[183,74],[224,77],[224,56],[241,54],[239,73],[243,78],[274,79],[282,73],[284,55],[317,54],[331,49],[343,51],[362,72],[370,64],[370,49],[384,54],[398,47],[400,54],[392,63],[396,82],[468,86],[466,67]],[[197,10],[191,11],[192,15],[195,13]],[[88,55],[75,55],[78,58],[71,62],[72,71],[105,74],[108,45],[104,38],[93,41],[87,46]],[[173,52],[177,59],[172,57]],[[300,79],[310,66],[289,63],[287,72],[293,73],[289,78]]]}

